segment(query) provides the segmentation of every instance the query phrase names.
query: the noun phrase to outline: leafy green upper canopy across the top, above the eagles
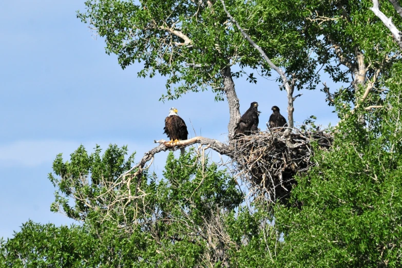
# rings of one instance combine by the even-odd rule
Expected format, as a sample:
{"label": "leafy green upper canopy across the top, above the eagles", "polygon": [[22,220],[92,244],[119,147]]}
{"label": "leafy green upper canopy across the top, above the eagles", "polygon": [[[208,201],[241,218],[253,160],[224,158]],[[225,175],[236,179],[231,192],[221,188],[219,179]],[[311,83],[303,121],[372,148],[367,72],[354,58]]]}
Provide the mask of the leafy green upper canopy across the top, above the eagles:
{"label": "leafy green upper canopy across the top, above the eagles", "polygon": [[[144,63],[139,76],[168,76],[161,100],[208,88],[217,93],[216,100],[223,100],[221,71],[232,65],[242,68],[234,77],[245,74],[251,83],[257,83],[258,76],[243,68],[255,69],[265,78],[272,75],[261,55],[228,21],[220,1],[89,0],[85,5],[78,17],[105,38],[106,52],[118,55],[122,68],[139,62]],[[385,59],[399,53],[388,29],[369,9],[370,0],[229,0],[225,5],[273,63],[285,69],[289,79],[295,78],[298,89],[315,89],[321,69],[334,82],[353,82],[360,68],[357,58],[367,68],[368,79],[373,80],[377,69],[380,76],[389,77],[392,61],[385,64]],[[392,5],[381,6],[401,28]],[[356,83],[363,88],[365,81],[336,90],[335,96],[356,104],[363,92],[356,90]],[[374,93],[380,94],[377,89]]]}

